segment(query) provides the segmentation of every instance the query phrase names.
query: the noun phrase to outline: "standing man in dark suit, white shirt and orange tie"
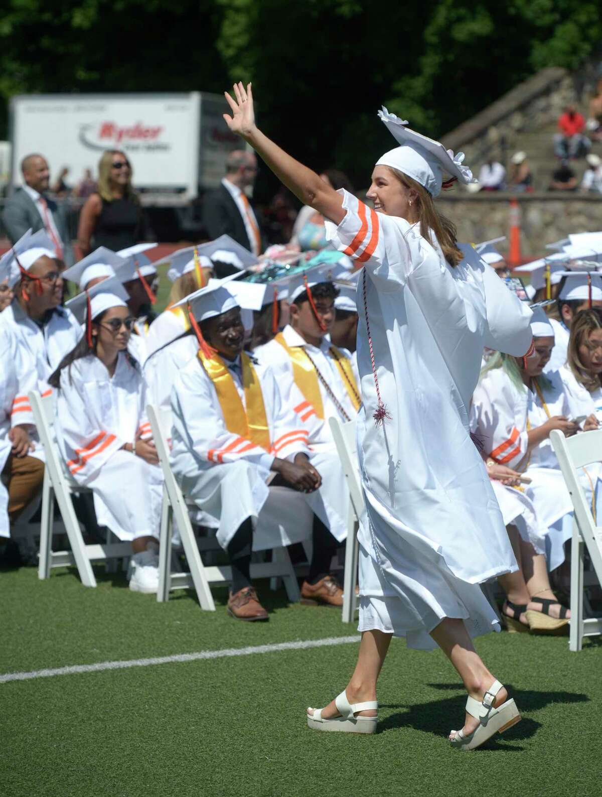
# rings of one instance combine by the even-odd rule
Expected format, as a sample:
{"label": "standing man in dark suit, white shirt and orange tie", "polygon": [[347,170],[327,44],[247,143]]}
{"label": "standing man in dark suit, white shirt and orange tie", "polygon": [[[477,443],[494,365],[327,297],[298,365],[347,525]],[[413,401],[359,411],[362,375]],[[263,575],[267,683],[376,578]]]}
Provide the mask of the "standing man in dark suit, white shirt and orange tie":
{"label": "standing man in dark suit, white shirt and orange tie", "polygon": [[260,224],[245,193],[245,189],[255,183],[256,176],[254,152],[231,152],[221,186],[205,196],[203,223],[209,238],[228,234],[249,252],[259,255],[264,250]]}

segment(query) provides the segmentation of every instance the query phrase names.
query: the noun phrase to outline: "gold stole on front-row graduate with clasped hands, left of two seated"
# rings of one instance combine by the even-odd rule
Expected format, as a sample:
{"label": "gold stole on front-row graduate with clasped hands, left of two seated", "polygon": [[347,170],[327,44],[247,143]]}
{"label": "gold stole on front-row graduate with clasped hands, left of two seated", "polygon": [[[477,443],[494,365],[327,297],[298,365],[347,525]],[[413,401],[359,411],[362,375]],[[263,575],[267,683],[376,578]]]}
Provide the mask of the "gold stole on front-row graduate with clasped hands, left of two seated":
{"label": "gold stole on front-row graduate with clasped hands, left of two seated", "polygon": [[223,359],[217,354],[208,359],[201,351],[198,351],[197,357],[205,368],[209,379],[213,382],[226,429],[269,451],[272,448],[272,443],[268,430],[268,417],[265,414],[264,395],[248,355],[244,354],[244,351],[240,355],[246,410],[240,401],[234,379],[228,368],[225,367]]}

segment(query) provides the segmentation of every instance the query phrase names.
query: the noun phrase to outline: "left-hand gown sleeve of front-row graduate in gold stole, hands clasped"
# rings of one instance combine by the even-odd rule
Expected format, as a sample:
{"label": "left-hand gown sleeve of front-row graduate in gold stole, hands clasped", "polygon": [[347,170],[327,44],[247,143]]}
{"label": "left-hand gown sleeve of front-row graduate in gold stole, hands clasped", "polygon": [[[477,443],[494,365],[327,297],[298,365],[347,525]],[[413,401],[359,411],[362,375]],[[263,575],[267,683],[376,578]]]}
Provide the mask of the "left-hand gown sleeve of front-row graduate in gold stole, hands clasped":
{"label": "left-hand gown sleeve of front-row graduate in gold stole, hands clasped", "polygon": [[221,410],[215,409],[215,391],[200,363],[186,367],[171,391],[174,456],[183,446],[197,461],[221,465],[246,459],[269,470],[274,455],[248,438],[226,429]]}

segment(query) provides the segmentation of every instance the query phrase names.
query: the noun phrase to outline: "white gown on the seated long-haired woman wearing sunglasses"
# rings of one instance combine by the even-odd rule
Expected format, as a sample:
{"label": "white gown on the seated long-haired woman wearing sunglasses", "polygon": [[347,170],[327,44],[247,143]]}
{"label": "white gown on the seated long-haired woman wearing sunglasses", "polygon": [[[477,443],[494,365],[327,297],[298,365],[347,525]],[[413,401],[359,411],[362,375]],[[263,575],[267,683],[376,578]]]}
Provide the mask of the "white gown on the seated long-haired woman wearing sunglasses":
{"label": "white gown on the seated long-haired woman wearing sunglasses", "polygon": [[123,352],[112,378],[95,355],[76,360],[61,371],[57,391],[57,442],[68,473],[92,489],[99,524],[119,540],[159,532],[161,469],[122,449],[151,436],[145,393]]}

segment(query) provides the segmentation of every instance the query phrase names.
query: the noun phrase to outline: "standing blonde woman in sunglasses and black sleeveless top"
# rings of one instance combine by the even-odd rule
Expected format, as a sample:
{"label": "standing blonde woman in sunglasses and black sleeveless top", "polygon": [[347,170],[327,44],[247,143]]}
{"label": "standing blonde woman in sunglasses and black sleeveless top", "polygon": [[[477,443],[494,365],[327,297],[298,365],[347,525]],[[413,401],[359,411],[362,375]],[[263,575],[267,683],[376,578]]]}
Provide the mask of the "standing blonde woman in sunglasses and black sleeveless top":
{"label": "standing blonde woman in sunglasses and black sleeveless top", "polygon": [[80,213],[80,257],[98,246],[117,252],[143,241],[145,219],[131,178],[126,155],[119,150],[104,151],[98,163],[98,190],[86,199]]}

